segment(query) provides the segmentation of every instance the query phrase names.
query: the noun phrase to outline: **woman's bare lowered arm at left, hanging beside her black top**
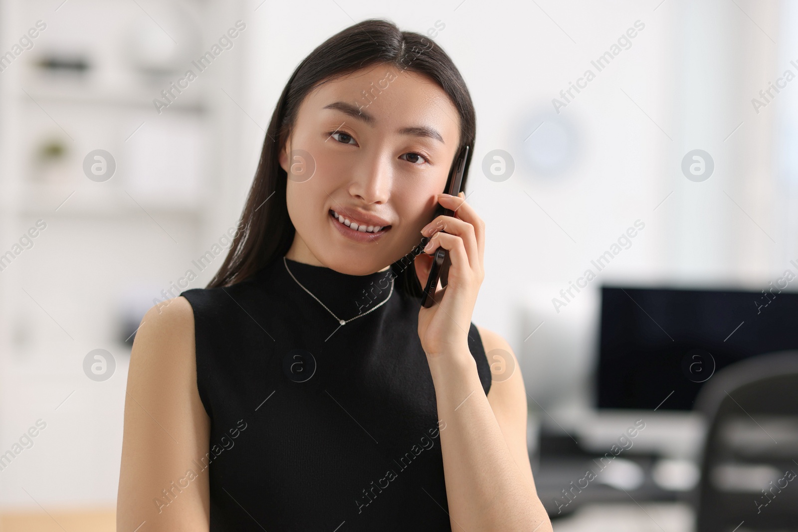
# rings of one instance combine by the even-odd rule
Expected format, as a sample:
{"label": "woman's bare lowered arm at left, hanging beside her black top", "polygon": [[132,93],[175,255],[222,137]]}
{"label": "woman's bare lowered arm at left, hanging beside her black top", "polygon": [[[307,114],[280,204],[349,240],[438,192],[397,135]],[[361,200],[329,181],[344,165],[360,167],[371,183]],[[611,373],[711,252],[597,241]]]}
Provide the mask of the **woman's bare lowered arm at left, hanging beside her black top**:
{"label": "woman's bare lowered arm at left, hanging beside her black top", "polygon": [[[208,530],[210,420],[196,384],[194,314],[185,298],[144,316],[124,400],[117,530]],[[196,475],[189,475],[189,471]]]}

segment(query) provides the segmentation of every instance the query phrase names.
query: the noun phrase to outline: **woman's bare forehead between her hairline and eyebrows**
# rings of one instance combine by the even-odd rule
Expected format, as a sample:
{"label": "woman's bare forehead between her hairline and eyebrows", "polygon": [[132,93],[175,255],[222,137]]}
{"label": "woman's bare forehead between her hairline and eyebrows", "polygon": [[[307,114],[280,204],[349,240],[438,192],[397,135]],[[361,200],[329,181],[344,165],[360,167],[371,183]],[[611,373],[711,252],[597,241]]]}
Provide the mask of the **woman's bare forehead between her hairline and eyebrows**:
{"label": "woman's bare forehead between her hairline and eyebrows", "polygon": [[[456,147],[459,140],[460,114],[444,90],[421,73],[393,65],[373,65],[322,83],[308,95],[302,107],[340,115],[325,108],[338,101],[373,116],[370,124],[373,128],[395,131],[407,126],[425,126],[440,132],[447,147]],[[365,124],[354,117],[342,120]]]}

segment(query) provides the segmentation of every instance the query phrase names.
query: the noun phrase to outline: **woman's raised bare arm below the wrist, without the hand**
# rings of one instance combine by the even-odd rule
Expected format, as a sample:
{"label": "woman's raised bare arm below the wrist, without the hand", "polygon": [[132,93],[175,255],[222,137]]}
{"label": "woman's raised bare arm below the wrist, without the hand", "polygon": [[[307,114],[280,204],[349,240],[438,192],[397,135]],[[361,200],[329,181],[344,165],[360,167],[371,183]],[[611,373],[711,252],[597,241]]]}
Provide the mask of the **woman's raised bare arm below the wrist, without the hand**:
{"label": "woman's raised bare arm below the wrist, without the hand", "polygon": [[[486,353],[498,348],[512,355],[502,337],[479,331]],[[526,392],[517,362],[508,380],[492,382],[488,396],[468,351],[436,357],[430,369],[443,429],[440,448],[452,530],[551,532],[532,479]]]}

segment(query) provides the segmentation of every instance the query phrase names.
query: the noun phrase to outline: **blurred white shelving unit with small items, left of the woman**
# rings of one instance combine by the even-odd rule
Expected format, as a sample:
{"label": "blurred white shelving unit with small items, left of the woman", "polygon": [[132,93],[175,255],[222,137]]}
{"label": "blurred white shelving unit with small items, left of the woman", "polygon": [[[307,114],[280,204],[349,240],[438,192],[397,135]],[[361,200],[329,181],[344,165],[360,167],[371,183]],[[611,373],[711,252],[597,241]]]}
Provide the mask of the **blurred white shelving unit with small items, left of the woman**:
{"label": "blurred white shelving unit with small items, left of the woman", "polygon": [[[0,72],[0,256],[37,220],[46,224],[30,249],[0,263],[0,454],[36,420],[47,423],[0,471],[3,508],[115,503],[132,345],[124,337],[231,225],[224,179],[237,170],[248,119],[220,88],[239,97],[244,38],[168,108],[159,113],[152,100],[196,71],[192,61],[245,18],[244,5],[0,0],[0,53],[46,24]],[[52,68],[76,62],[87,68]],[[83,170],[96,149],[116,163],[104,182]],[[116,361],[108,380],[83,371],[93,349]]]}

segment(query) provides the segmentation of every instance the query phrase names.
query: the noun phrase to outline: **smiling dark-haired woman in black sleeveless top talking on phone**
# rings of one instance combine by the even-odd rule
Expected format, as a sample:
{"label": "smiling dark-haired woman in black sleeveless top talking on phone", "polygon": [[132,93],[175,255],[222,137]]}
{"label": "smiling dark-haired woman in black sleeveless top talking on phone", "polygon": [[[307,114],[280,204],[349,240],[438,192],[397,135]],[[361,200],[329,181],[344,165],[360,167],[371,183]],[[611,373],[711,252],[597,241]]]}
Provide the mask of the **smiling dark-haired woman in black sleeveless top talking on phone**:
{"label": "smiling dark-haired woman in black sleeveless top talking on phone", "polygon": [[136,335],[117,530],[551,530],[521,373],[485,354],[512,349],[471,323],[484,223],[440,194],[475,129],[449,57],[392,23],[298,65],[227,259]]}

